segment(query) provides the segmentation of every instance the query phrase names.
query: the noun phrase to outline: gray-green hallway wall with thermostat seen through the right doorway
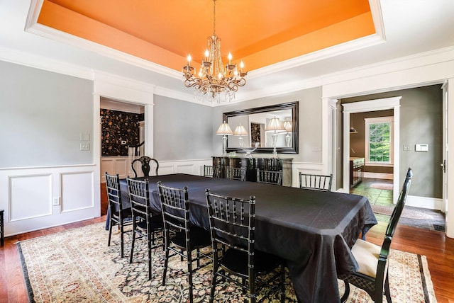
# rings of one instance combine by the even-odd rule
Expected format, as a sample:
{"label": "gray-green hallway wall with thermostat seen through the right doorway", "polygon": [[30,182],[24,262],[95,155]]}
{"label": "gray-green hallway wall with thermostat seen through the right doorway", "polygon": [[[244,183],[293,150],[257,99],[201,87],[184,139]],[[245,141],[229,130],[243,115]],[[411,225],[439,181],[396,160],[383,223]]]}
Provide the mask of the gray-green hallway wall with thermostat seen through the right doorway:
{"label": "gray-green hallway wall with thermostat seen through the right doorway", "polygon": [[[443,91],[441,85],[376,93],[344,99],[344,102],[367,101],[402,96],[400,107],[400,172],[399,184],[405,179],[406,169],[411,167],[414,178],[410,194],[442,198],[443,161]],[[409,151],[403,150],[403,145]],[[428,144],[428,151],[415,151],[415,144]]]}

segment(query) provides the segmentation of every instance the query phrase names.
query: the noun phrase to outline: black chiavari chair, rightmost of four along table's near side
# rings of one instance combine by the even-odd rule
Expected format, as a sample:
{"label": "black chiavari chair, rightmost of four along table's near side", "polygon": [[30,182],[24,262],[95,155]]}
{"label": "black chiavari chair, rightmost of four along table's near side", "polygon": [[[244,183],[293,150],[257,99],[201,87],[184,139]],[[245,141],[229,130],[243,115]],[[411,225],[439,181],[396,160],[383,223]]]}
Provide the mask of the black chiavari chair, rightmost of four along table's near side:
{"label": "black chiavari chair, rightmost of four along table's near side", "polygon": [[[263,298],[270,298],[273,291],[285,300],[285,271],[282,258],[255,249],[255,196],[249,200],[231,198],[211,193],[206,189],[213,250],[213,277],[209,302],[214,301],[218,277],[235,283],[243,292],[249,292],[251,303],[255,303],[256,292],[267,286]],[[222,247],[222,258],[218,256]],[[239,277],[240,280],[232,278]],[[279,283],[270,284],[279,279]],[[245,280],[248,282],[245,283]]]}

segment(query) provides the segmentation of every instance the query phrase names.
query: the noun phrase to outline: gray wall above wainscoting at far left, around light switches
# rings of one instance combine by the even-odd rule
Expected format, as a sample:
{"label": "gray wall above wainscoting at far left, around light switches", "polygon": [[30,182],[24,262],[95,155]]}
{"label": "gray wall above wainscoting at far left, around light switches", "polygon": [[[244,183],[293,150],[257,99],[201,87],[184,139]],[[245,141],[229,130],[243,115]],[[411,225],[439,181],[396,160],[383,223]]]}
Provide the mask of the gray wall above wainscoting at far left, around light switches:
{"label": "gray wall above wainscoting at far left, around light switches", "polygon": [[93,82],[0,61],[0,168],[93,163]]}

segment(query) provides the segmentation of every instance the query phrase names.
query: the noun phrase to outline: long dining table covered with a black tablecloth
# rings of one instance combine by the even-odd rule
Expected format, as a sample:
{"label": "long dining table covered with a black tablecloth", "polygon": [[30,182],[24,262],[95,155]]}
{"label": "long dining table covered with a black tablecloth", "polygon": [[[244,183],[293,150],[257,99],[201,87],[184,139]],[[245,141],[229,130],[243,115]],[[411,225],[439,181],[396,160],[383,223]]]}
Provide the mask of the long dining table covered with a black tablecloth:
{"label": "long dining table covered with a black tablecloth", "polygon": [[[184,173],[148,180],[150,207],[160,213],[157,182],[187,186],[190,220],[209,230],[205,190],[249,199],[255,196],[255,248],[287,261],[299,302],[340,302],[338,275],[358,270],[351,248],[377,224],[369,200],[361,195],[323,192]],[[126,179],[120,180],[123,207],[130,206]]]}

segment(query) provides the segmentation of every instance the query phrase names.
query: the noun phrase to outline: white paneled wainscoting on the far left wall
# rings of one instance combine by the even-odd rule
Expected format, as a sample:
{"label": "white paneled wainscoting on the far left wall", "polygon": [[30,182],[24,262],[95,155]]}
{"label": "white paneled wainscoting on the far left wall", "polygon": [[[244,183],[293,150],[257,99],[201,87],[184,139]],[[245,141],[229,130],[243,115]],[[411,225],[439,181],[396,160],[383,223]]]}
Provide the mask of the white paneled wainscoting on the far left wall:
{"label": "white paneled wainscoting on the far left wall", "polygon": [[99,217],[95,169],[95,164],[1,168],[5,236]]}

